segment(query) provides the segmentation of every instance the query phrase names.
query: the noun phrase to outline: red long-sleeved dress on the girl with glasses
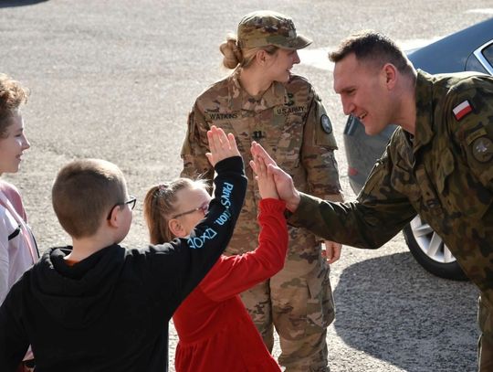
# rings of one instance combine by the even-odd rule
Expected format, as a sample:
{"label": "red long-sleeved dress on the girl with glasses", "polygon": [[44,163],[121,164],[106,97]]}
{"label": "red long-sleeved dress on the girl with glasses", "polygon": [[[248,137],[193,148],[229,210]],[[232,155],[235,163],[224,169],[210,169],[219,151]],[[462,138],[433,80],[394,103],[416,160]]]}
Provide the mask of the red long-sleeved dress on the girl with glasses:
{"label": "red long-sleeved dress on the girl with glasses", "polygon": [[288,249],[284,209],[280,200],[261,200],[257,250],[221,256],[173,314],[180,338],[176,372],[280,371],[238,293],[282,269]]}

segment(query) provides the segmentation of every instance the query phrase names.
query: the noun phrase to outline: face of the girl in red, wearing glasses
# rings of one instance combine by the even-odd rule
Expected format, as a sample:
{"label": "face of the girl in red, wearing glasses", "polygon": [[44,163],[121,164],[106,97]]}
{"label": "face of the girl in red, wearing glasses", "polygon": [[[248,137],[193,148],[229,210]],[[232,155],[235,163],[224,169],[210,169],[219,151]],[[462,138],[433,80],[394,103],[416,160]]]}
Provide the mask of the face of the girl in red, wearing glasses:
{"label": "face of the girl in red, wearing glasses", "polygon": [[176,193],[176,197],[178,202],[172,218],[178,220],[185,237],[204,219],[212,197],[201,186],[183,188]]}

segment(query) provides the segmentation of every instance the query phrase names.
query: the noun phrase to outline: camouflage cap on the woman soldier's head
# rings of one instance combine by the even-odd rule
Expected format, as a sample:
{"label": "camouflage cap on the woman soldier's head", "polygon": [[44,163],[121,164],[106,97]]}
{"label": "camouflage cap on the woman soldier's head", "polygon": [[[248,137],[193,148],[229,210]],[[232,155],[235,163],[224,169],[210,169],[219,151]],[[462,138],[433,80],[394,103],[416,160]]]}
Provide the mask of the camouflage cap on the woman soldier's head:
{"label": "camouflage cap on the woman soldier's head", "polygon": [[285,49],[308,47],[311,40],[296,34],[293,20],[270,10],[260,10],[244,16],[237,31],[239,48],[274,45]]}

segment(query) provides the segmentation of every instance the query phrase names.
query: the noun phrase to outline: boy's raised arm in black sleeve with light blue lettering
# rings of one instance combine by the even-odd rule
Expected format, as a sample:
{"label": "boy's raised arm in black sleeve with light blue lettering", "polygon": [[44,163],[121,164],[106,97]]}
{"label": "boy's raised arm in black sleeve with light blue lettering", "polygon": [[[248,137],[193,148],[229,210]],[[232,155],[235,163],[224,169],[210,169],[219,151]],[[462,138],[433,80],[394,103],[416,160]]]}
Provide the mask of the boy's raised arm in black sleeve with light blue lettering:
{"label": "boy's raised arm in black sleeve with light blue lettering", "polygon": [[[209,134],[211,154],[215,165],[215,197],[209,211],[188,238],[151,246],[152,292],[159,293],[165,309],[173,314],[184,297],[194,290],[213,267],[233,235],[247,190],[247,177],[241,156],[238,156],[235,137],[215,128]],[[171,314],[168,314],[171,317]],[[165,314],[163,314],[165,316]]]}

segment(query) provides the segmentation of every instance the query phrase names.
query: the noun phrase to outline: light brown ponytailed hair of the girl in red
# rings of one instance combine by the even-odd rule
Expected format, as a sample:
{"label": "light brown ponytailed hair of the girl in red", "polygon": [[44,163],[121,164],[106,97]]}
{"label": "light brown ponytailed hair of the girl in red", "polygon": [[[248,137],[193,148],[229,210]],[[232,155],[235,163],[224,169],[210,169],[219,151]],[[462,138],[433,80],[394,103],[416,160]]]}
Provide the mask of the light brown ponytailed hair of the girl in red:
{"label": "light brown ponytailed hair of the girl in red", "polygon": [[178,178],[169,184],[152,186],[144,198],[143,213],[151,244],[163,244],[174,238],[170,231],[168,221],[177,212],[178,191],[203,187],[208,189],[204,179],[192,180]]}

